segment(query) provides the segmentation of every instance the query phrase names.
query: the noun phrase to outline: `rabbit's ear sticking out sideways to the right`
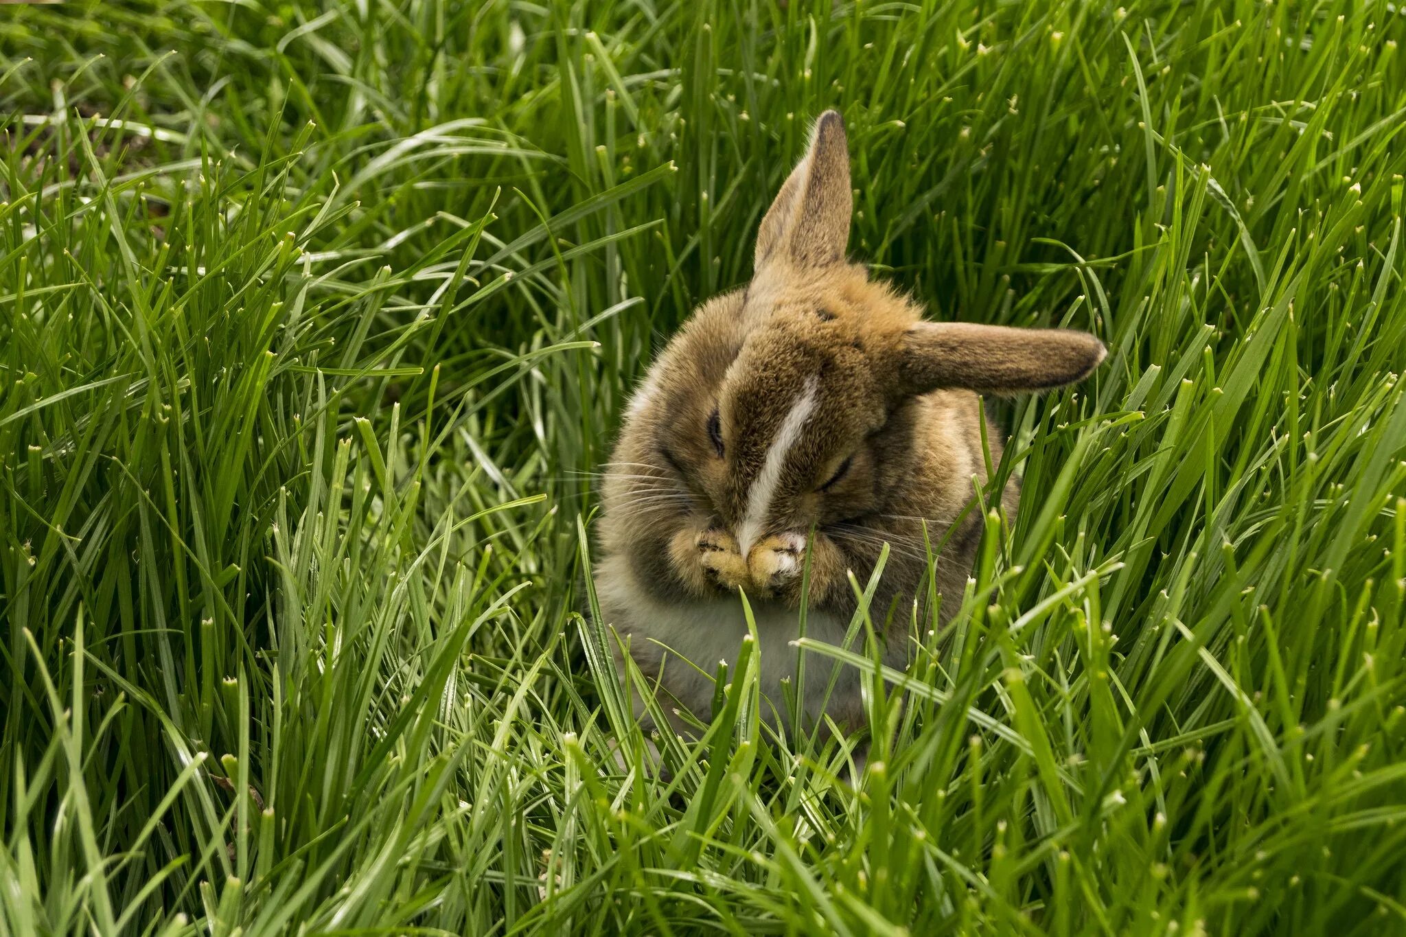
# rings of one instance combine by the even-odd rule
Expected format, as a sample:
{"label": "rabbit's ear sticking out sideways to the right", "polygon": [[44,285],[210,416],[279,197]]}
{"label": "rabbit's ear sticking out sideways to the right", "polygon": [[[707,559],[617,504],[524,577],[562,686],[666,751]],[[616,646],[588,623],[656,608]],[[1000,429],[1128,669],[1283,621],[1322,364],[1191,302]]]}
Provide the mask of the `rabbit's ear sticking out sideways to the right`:
{"label": "rabbit's ear sticking out sideways to the right", "polygon": [[981,393],[1045,391],[1083,381],[1108,351],[1087,332],[921,322],[900,346],[900,393],[962,388]]}

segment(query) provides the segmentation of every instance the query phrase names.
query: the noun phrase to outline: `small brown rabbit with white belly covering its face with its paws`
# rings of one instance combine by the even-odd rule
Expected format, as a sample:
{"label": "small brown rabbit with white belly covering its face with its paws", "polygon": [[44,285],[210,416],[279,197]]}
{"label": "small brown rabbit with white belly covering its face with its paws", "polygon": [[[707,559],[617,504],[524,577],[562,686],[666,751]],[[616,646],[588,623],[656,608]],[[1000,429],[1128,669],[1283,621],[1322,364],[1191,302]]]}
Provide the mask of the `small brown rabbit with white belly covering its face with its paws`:
{"label": "small brown rabbit with white belly covering its face with its paws", "polygon": [[[827,111],[762,219],[751,284],[706,302],[630,402],[605,476],[595,579],[606,624],[666,712],[707,718],[711,674],[747,634],[741,589],[763,715],[785,716],[811,528],[808,636],[844,642],[856,608],[846,573],[865,582],[887,542],[870,610],[877,627],[907,604],[884,635],[887,662],[903,666],[928,575],[924,521],[936,545],[973,478],[986,482],[977,393],[1060,386],[1104,360],[1080,332],[922,322],[917,303],[845,258],[851,211],[845,125]],[[990,447],[998,459],[998,438]],[[1012,483],[1011,513],[1017,496]],[[938,558],[943,611],[962,598],[980,531],[969,511]],[[841,670],[827,697],[831,664],[813,660],[807,722],[824,711],[860,726],[859,674]]]}

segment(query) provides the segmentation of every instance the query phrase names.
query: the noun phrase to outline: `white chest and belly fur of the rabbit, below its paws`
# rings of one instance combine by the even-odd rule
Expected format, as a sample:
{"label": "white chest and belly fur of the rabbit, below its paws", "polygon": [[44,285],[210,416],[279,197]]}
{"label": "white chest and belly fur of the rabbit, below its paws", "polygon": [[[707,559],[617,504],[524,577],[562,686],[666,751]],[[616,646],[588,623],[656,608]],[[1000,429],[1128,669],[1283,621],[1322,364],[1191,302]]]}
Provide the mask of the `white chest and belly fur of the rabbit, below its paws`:
{"label": "white chest and belly fur of the rabbit, below its paws", "polygon": [[[713,676],[718,662],[733,667],[747,636],[747,617],[737,597],[665,603],[640,586],[624,556],[600,562],[595,575],[600,612],[630,648],[630,656],[650,680],[659,679],[665,690],[700,719],[707,721],[713,702]],[[782,687],[797,686],[800,652],[792,642],[800,636],[794,610],[778,603],[752,607],[761,664],[762,718],[789,722]],[[806,635],[842,645],[849,620],[811,611]],[[862,643],[862,638],[856,645]],[[620,662],[619,650],[616,652]],[[831,676],[835,674],[831,690]],[[665,702],[665,709],[673,705]],[[807,722],[815,725],[824,709],[838,722],[862,719],[860,674],[849,666],[814,652],[806,655],[803,704]],[[637,715],[641,707],[637,701]]]}

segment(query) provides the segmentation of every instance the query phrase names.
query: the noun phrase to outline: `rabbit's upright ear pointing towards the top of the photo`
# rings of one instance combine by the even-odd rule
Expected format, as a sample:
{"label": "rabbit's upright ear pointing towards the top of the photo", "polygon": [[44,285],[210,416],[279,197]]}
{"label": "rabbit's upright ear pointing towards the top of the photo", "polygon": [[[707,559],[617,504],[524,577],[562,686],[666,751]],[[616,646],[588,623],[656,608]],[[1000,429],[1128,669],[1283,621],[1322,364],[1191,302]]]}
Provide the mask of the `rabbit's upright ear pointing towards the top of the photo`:
{"label": "rabbit's upright ear pointing towards the top of the photo", "polygon": [[852,211],[845,121],[839,111],[825,111],[815,122],[806,157],[766,209],[756,235],[755,268],[782,256],[800,267],[844,260]]}

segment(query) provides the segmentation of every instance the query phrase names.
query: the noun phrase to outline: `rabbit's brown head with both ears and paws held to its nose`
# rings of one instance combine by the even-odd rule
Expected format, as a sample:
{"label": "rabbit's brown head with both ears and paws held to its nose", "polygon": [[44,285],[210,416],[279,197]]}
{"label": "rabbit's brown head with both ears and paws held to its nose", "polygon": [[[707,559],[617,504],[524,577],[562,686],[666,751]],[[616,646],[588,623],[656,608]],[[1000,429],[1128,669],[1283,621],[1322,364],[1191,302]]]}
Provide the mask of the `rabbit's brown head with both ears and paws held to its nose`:
{"label": "rabbit's brown head with both ears and paws held to its nose", "polygon": [[[654,556],[672,568],[657,572],[689,591],[766,593],[813,528],[828,551],[817,561],[851,566],[831,527],[938,482],[922,473],[943,428],[921,426],[938,419],[921,398],[1053,388],[1104,358],[1085,333],[922,322],[846,260],[852,201],[844,121],[827,111],[762,219],[752,281],[699,310],[631,403],[616,468],[634,480],[607,485],[607,518],[647,506],[637,525],[661,534]],[[970,496],[970,475],[950,480]],[[682,539],[664,537],[675,527]],[[690,577],[695,553],[704,572]]]}

